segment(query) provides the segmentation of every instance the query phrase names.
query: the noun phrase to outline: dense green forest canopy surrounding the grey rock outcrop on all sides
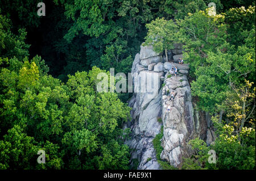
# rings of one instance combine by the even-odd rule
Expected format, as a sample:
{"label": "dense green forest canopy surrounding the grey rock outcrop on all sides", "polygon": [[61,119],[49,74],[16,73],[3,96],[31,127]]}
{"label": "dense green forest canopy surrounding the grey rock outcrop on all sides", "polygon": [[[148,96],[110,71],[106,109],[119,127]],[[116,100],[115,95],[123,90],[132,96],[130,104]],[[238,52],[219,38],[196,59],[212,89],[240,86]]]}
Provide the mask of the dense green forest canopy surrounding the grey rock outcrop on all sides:
{"label": "dense green forest canopy surrounding the grey rock outcrop on all sides", "polygon": [[183,169],[255,169],[255,2],[53,0],[40,17],[38,2],[0,2],[0,169],[131,169],[131,94],[96,84],[129,73],[143,42],[184,44],[197,108],[218,131],[214,145],[189,142]]}

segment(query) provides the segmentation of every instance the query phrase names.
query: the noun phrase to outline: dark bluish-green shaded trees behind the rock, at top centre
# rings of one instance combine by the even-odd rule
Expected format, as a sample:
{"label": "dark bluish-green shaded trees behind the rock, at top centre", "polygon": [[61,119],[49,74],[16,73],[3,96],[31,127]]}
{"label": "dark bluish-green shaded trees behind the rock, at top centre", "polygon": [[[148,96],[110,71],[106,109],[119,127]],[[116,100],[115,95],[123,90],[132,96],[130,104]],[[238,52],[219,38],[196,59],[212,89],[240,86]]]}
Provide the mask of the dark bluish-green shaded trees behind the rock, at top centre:
{"label": "dark bluish-green shaded trees behind the rock, at top centre", "polygon": [[[75,57],[79,56],[70,61],[70,56],[67,57],[68,65],[65,71],[72,74],[76,72],[73,69],[83,71],[93,66],[129,72],[133,58],[146,35],[144,24],[164,14],[164,2],[160,0],[83,0],[55,3],[64,5],[65,16],[70,22],[65,26],[68,28],[64,33],[67,42],[62,41],[62,45],[58,45],[65,48],[67,56],[73,56],[73,53]],[[76,47],[67,48],[67,44]]]}

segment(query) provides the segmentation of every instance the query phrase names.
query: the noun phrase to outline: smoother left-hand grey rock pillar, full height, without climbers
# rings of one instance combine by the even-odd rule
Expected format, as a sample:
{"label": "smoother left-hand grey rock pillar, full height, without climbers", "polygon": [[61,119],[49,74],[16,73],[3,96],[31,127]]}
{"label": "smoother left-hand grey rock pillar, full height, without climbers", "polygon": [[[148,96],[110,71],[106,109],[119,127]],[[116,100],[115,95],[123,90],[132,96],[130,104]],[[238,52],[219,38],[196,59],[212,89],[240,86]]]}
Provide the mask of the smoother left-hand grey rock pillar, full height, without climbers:
{"label": "smoother left-hand grey rock pillar, full height, without climbers", "polygon": [[134,94],[129,101],[129,106],[133,108],[131,111],[133,119],[128,121],[124,128],[131,129],[132,138],[125,141],[125,144],[134,150],[131,153],[131,161],[138,160],[137,169],[142,170],[160,169],[152,144],[152,140],[162,126],[158,121],[162,114],[162,92],[159,90],[162,85],[160,78],[163,77],[164,72],[163,64],[156,64],[159,60],[162,61],[162,56],[155,53],[152,47],[142,46],[141,52],[135,56],[131,70]]}

